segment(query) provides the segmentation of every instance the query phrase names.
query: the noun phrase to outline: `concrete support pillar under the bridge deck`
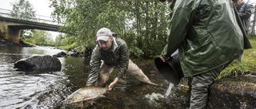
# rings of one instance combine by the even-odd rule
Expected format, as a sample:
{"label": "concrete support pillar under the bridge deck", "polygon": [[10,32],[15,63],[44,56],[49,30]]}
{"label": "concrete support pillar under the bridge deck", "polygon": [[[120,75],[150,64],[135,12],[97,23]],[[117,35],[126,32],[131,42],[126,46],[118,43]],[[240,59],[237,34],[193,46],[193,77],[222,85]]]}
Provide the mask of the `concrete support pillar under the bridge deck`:
{"label": "concrete support pillar under the bridge deck", "polygon": [[19,43],[20,32],[21,32],[21,29],[11,28],[8,26],[8,33],[7,33],[8,40],[13,41],[14,43]]}

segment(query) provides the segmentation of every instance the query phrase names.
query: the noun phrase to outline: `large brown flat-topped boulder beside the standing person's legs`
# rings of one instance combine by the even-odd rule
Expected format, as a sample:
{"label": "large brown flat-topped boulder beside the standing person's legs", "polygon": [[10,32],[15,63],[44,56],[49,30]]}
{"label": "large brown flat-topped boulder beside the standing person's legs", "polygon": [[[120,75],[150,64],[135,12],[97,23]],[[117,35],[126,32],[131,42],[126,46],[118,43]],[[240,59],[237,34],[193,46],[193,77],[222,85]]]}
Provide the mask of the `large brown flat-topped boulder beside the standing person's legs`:
{"label": "large brown flat-topped boulder beside the standing person's legs", "polygon": [[208,108],[252,109],[256,107],[255,76],[233,76],[216,80],[209,90]]}

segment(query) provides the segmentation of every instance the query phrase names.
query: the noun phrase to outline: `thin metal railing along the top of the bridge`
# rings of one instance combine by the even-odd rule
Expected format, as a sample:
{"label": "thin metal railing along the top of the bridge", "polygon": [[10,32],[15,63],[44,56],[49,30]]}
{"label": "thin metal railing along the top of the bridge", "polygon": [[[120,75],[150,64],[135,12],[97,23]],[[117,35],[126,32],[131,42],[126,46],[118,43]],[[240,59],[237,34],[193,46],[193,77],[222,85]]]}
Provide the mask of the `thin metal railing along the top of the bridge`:
{"label": "thin metal railing along the top of the bridge", "polygon": [[[11,10],[1,9],[1,8],[0,8],[0,16],[6,17],[6,18],[13,18],[12,14],[11,14]],[[20,17],[18,17],[17,19],[24,20]],[[26,18],[26,20],[27,21],[37,21],[37,22],[47,23],[47,24],[52,24],[52,25],[58,25],[58,22],[54,21],[53,18],[43,16],[43,15],[38,15],[38,14],[35,14],[35,18]]]}

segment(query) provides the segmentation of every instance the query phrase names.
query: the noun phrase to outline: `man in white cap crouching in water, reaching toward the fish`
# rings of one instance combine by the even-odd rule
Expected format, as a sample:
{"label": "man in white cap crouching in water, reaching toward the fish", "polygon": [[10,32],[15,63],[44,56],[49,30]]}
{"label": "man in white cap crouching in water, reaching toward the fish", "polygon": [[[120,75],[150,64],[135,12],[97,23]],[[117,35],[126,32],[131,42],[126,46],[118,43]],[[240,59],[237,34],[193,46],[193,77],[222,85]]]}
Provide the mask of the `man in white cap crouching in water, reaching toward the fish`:
{"label": "man in white cap crouching in water, reaching toward the fish", "polygon": [[[125,73],[134,76],[137,80],[146,84],[152,83],[136,64],[129,59],[129,49],[126,41],[113,37],[110,29],[99,29],[97,43],[90,59],[90,74],[86,86],[95,85],[103,87],[109,80],[111,72],[118,67],[118,72],[114,81],[108,86],[111,90],[118,80]],[[156,85],[156,84],[154,84]]]}

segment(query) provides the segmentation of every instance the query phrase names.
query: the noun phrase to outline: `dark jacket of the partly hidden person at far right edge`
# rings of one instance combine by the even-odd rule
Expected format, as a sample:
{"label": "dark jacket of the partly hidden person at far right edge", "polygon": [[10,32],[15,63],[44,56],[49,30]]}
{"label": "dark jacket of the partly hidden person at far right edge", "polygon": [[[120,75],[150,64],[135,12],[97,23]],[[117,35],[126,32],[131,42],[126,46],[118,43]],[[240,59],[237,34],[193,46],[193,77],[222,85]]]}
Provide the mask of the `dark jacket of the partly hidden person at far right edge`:
{"label": "dark jacket of the partly hidden person at far right edge", "polygon": [[238,10],[238,15],[242,21],[242,25],[246,30],[246,34],[248,34],[249,27],[250,27],[250,15],[254,10],[254,6],[242,2],[239,6],[236,7]]}

